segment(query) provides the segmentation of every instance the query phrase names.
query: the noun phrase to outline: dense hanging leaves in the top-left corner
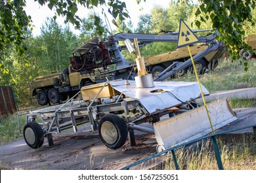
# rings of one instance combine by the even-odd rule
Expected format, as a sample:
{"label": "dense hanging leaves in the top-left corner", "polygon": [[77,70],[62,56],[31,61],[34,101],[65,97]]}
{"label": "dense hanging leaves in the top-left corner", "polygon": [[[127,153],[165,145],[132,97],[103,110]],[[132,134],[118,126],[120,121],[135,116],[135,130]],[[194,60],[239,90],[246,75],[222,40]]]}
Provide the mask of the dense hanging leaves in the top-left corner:
{"label": "dense hanging leaves in the top-left corner", "polygon": [[[10,44],[18,54],[23,54],[26,46],[22,44],[31,27],[31,17],[24,11],[25,1],[0,1],[0,72],[9,73],[5,53]],[[10,61],[10,60],[9,60]]]}

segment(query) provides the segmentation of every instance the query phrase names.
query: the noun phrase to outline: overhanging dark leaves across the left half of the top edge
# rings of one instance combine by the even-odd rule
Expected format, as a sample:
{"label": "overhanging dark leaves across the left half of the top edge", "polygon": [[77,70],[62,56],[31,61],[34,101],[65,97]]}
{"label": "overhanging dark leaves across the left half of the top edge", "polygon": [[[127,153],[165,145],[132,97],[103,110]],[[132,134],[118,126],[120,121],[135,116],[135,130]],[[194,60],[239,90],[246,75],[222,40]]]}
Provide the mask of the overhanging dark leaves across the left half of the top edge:
{"label": "overhanging dark leaves across the left half of the top edge", "polygon": [[[81,19],[77,16],[78,6],[85,7],[88,10],[94,7],[100,7],[106,5],[108,12],[113,16],[112,22],[116,24],[116,18],[121,21],[125,18],[129,18],[126,10],[125,2],[119,0],[35,0],[38,1],[39,5],[47,5],[51,10],[54,10],[54,20],[56,16],[63,16],[66,21],[71,22],[79,29],[81,25]],[[138,1],[139,3],[139,1]],[[31,16],[26,14],[24,7],[26,6],[26,0],[8,0],[0,1],[0,56],[2,57],[5,49],[10,45],[15,46],[18,54],[24,54],[27,50],[26,44],[24,43],[25,35],[28,29],[32,30]],[[104,9],[102,8],[102,13]],[[94,22],[98,33],[102,34],[104,28],[101,25],[100,18],[95,14]],[[5,63],[0,61],[0,71],[8,73],[5,69]]]}

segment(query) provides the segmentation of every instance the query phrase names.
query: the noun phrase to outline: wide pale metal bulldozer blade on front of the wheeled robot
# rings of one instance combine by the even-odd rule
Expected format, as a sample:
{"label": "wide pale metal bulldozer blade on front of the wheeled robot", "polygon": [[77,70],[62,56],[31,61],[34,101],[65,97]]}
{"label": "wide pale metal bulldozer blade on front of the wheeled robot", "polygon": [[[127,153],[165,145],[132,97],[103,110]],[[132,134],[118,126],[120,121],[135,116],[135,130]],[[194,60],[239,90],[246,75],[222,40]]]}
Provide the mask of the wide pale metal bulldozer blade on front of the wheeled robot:
{"label": "wide pale metal bulldozer blade on front of the wheeled robot", "polygon": [[[226,99],[207,104],[213,129],[223,127],[238,118],[230,108]],[[154,124],[158,152],[193,141],[212,132],[205,106],[194,108],[173,118]]]}

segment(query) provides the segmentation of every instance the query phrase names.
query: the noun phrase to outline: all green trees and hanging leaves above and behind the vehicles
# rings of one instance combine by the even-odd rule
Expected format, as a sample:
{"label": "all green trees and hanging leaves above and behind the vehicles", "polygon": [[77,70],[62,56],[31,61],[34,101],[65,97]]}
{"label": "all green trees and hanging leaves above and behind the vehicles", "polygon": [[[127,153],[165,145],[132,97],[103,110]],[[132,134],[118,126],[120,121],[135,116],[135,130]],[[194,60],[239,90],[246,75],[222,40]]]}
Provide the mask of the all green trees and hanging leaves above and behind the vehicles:
{"label": "all green trees and hanging leaves above and behind the vehicles", "polygon": [[[32,18],[24,10],[26,0],[0,1],[0,83],[15,86],[18,101],[26,103],[30,103],[27,99],[30,98],[29,88],[33,78],[52,71],[62,71],[69,65],[72,50],[96,35],[104,37],[108,34],[100,16],[94,12],[89,13],[91,8],[108,8],[108,13],[113,16],[112,22],[117,25],[114,33],[176,31],[179,29],[180,18],[191,25],[192,29],[218,29],[222,41],[230,46],[230,52],[246,48],[245,35],[256,33],[255,0],[199,0],[199,5],[189,3],[188,0],[171,0],[169,7],[154,7],[150,14],[141,15],[137,27],[134,27],[132,20],[128,23],[123,21],[129,18],[123,1],[35,1],[39,5],[47,5],[56,12],[53,18],[48,18],[43,24],[41,35],[37,37],[32,36]],[[79,5],[88,10],[87,18],[77,16]],[[102,13],[105,13],[103,9]],[[55,21],[56,16],[64,16],[66,22],[71,22],[81,30],[81,35],[72,33],[68,26],[58,25]],[[175,44],[154,42],[141,48],[141,53],[143,56],[151,56],[175,48]],[[127,60],[134,61],[133,55],[125,51],[123,54]],[[246,61],[244,66],[247,67]]]}

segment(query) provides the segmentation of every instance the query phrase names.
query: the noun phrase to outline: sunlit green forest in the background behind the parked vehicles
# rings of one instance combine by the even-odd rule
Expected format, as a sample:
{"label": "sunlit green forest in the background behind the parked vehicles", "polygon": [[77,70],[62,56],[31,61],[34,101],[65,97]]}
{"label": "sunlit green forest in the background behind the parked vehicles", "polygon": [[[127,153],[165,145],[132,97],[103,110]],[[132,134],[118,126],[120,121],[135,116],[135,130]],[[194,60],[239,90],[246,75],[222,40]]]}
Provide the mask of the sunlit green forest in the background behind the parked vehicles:
{"label": "sunlit green forest in the background behind the parked vehicles", "polygon": [[[150,14],[142,14],[137,25],[133,20],[124,22],[116,21],[118,27],[113,31],[107,29],[105,20],[100,20],[104,25],[101,39],[116,33],[160,33],[163,31],[177,31],[179,20],[182,18],[192,29],[196,26],[196,10],[198,5],[188,4],[184,1],[170,1],[169,7],[154,7]],[[253,22],[256,22],[256,8],[252,11]],[[211,29],[212,23],[205,18],[201,22],[200,29]],[[256,33],[256,25],[247,22],[244,25],[245,35]],[[18,106],[21,108],[35,105],[32,99],[30,86],[36,76],[47,75],[52,72],[61,72],[70,64],[72,51],[89,41],[91,38],[101,35],[95,26],[95,14],[91,12],[83,18],[81,33],[76,35],[68,25],[58,24],[53,17],[47,18],[41,27],[41,34],[33,37],[32,32],[26,34],[27,50],[20,56],[16,53],[15,45],[10,44],[1,53],[1,62],[5,68],[0,68],[0,85],[12,86],[16,93]],[[203,33],[201,33],[203,34]],[[205,34],[205,33],[204,33]],[[155,42],[141,48],[142,56],[153,56],[175,50],[175,43]],[[123,52],[128,61],[134,61],[135,57],[128,52]],[[233,60],[234,61],[234,60]],[[230,61],[230,64],[232,60]]]}

